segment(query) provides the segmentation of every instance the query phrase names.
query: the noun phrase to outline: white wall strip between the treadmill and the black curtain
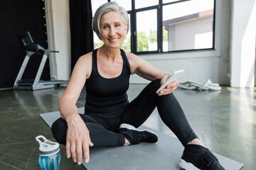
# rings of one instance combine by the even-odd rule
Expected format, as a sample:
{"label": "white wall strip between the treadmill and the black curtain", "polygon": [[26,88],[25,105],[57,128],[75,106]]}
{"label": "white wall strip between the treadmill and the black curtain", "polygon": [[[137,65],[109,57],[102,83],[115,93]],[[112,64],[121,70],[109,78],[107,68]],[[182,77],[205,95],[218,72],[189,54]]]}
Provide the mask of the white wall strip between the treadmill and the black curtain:
{"label": "white wall strip between the treadmill and the black curtain", "polygon": [[51,79],[70,79],[70,16],[68,0],[45,0]]}

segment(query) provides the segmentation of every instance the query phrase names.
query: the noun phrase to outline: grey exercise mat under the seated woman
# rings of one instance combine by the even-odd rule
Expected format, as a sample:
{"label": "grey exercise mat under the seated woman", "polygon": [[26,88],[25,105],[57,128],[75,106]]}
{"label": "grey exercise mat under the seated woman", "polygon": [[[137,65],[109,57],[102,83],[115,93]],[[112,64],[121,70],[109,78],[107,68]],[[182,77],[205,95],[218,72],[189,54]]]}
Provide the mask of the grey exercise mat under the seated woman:
{"label": "grey exercise mat under the seated woman", "polygon": [[[78,108],[78,113],[83,113],[83,108]],[[56,119],[60,118],[60,112],[42,113],[41,117],[51,126]],[[159,141],[154,144],[141,143],[127,147],[92,147],[90,148],[90,162],[87,164],[82,162],[82,164],[88,170],[181,169],[178,166],[178,160],[183,152],[181,143],[175,137],[165,135],[163,132],[156,133],[159,136]],[[237,170],[244,165],[220,154],[215,154],[215,156],[226,170]]]}

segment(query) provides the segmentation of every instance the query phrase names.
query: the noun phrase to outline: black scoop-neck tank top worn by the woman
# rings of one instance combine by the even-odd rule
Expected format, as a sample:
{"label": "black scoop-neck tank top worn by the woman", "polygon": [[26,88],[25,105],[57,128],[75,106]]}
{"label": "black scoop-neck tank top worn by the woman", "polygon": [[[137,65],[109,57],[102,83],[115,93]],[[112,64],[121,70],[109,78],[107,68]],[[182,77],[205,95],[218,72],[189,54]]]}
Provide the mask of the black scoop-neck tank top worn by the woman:
{"label": "black scoop-neck tank top worn by the woman", "polygon": [[121,50],[123,67],[118,77],[111,79],[100,76],[97,69],[97,49],[92,52],[92,72],[85,81],[85,113],[110,113],[127,106],[127,90],[131,74],[124,50]]}

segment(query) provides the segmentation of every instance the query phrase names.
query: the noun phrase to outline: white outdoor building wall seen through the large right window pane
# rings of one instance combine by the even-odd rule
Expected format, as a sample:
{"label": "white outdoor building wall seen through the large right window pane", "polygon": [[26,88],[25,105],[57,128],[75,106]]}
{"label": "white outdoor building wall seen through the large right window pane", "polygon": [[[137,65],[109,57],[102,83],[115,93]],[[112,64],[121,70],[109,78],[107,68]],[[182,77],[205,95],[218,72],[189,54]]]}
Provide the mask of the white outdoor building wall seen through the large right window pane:
{"label": "white outdoor building wall seen through the large right window pane", "polygon": [[213,47],[213,16],[193,18],[165,28],[168,30],[170,51]]}

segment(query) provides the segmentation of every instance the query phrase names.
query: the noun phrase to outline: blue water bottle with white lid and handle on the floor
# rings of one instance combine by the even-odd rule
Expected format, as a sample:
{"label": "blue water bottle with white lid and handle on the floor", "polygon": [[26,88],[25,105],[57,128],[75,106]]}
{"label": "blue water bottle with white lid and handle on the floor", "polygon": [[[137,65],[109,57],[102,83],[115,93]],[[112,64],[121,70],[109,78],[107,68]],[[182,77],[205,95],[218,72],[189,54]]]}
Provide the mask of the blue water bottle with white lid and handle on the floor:
{"label": "blue water bottle with white lid and handle on the floor", "polygon": [[[39,139],[43,139],[39,140]],[[60,169],[60,145],[57,142],[51,142],[46,137],[39,135],[36,137],[39,143],[39,164],[42,170],[59,170]]]}

